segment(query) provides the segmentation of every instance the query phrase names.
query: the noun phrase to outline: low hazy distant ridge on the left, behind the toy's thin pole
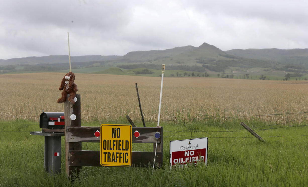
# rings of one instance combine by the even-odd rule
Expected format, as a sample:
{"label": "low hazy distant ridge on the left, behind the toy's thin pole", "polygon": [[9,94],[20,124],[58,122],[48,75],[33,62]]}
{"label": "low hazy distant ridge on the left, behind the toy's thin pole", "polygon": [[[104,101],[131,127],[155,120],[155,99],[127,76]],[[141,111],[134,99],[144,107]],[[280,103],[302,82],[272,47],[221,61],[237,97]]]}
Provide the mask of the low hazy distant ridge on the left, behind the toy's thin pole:
{"label": "low hazy distant ridge on the left, behind the toy's thin pole", "polygon": [[[115,60],[121,56],[102,56],[102,55],[86,55],[71,57],[71,62],[91,62],[91,61],[106,61]],[[69,62],[68,55],[50,55],[44,57],[25,57],[11,58],[7,60],[0,59],[0,65],[34,65],[34,64],[59,64]]]}

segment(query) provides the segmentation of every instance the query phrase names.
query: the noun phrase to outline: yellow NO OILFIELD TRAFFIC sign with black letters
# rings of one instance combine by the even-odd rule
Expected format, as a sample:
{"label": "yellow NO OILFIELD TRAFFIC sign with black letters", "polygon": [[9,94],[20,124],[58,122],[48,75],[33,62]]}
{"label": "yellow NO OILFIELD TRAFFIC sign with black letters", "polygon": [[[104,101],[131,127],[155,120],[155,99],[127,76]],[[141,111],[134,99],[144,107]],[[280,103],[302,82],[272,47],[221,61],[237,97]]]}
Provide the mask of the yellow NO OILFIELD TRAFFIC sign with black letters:
{"label": "yellow NO OILFIELD TRAFFIC sign with black letters", "polygon": [[132,126],[102,124],[100,126],[100,165],[132,164]]}

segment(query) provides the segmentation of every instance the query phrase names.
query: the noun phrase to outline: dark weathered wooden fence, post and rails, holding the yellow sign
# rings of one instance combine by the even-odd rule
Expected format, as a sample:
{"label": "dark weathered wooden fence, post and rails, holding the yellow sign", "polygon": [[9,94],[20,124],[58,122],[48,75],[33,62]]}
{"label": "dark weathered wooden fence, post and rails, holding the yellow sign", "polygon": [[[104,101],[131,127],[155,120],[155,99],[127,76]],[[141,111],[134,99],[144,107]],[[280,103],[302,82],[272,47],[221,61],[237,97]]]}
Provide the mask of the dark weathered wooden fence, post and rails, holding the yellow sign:
{"label": "dark weathered wooden fence, post and rails, holding the yellow sign", "polygon": [[[65,165],[68,176],[74,172],[79,173],[82,166],[101,166],[100,151],[82,150],[82,142],[100,142],[100,138],[94,136],[94,133],[100,127],[82,127],[80,115],[80,95],[76,94],[77,101],[75,105],[66,101],[64,104],[65,111]],[[76,116],[75,120],[71,115]],[[73,117],[72,117],[73,118]],[[136,138],[133,133],[140,133]],[[160,133],[160,138],[155,138],[155,133]],[[157,148],[156,148],[157,140]],[[163,163],[163,128],[162,127],[132,127],[132,143],[153,143],[153,152],[134,152],[132,151],[131,167],[148,167],[155,163],[160,167]],[[156,150],[155,150],[156,148]]]}

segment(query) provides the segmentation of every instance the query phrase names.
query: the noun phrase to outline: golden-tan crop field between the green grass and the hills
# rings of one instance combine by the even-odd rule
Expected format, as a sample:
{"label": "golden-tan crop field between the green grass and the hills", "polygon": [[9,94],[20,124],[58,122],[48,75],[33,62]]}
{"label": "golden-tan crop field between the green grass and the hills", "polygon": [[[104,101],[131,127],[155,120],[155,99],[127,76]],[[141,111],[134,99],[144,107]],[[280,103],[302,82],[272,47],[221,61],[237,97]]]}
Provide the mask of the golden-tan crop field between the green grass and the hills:
{"label": "golden-tan crop field between the green grass and the hills", "polygon": [[[63,112],[58,90],[63,73],[0,75],[0,115],[38,120],[40,113]],[[129,115],[141,121],[135,83],[145,121],[157,121],[161,78],[76,74],[77,94],[85,120],[117,121]],[[260,115],[284,122],[306,117],[261,116],[307,111],[307,81],[264,81],[223,78],[164,78],[160,120]],[[289,118],[290,119],[289,119]]]}

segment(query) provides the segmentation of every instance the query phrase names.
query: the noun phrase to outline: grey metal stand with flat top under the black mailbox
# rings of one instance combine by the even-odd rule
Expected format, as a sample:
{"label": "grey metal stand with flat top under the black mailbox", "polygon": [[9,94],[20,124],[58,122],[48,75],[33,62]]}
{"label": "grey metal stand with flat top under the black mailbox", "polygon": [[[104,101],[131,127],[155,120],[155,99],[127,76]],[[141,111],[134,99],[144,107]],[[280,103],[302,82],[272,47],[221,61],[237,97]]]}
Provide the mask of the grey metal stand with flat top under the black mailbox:
{"label": "grey metal stand with flat top under the black mailbox", "polygon": [[[61,172],[61,136],[64,133],[30,132],[31,135],[45,136],[44,166],[50,174]],[[59,156],[55,156],[59,153]]]}

